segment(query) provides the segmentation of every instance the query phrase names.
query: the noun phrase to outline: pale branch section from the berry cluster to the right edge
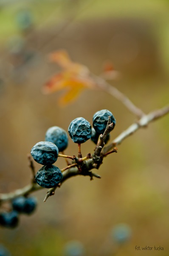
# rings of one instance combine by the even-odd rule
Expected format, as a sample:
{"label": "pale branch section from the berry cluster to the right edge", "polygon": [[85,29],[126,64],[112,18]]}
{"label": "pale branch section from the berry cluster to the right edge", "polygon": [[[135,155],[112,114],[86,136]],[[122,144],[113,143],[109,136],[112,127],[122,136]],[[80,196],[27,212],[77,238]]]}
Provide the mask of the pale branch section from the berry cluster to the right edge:
{"label": "pale branch section from the berry cluster to the right edge", "polygon": [[141,117],[138,122],[130,125],[125,131],[123,131],[118,137],[116,137],[110,145],[104,147],[103,154],[106,154],[110,151],[111,148],[115,147],[118,144],[121,144],[124,139],[132,135],[135,131],[140,128],[146,127],[150,122],[155,121],[156,119],[160,118],[161,116],[166,115],[169,113],[169,105],[164,108],[158,109],[156,111],[150,112],[149,114]]}

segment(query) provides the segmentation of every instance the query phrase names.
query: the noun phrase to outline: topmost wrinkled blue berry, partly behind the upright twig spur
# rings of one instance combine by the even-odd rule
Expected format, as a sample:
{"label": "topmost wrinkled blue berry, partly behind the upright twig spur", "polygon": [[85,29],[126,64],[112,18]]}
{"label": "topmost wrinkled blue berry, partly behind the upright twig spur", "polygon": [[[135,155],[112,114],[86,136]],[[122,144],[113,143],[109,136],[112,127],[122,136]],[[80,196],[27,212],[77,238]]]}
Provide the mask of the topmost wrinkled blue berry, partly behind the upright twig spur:
{"label": "topmost wrinkled blue berry, partly behind the upright twig spur", "polygon": [[99,133],[99,134],[104,133],[104,131],[106,129],[106,126],[107,126],[109,116],[111,116],[110,122],[113,123],[113,125],[115,127],[115,123],[116,123],[115,117],[107,109],[97,111],[94,114],[94,116],[93,116],[93,127],[94,127],[94,129],[97,133]]}

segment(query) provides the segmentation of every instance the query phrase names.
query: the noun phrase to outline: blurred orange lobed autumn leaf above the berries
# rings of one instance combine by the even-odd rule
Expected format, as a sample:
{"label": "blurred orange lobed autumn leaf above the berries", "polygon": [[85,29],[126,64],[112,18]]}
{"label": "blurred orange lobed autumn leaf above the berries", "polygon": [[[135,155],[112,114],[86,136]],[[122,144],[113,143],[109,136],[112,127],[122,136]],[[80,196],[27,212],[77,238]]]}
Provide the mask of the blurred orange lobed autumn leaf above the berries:
{"label": "blurred orange lobed autumn leaf above the berries", "polygon": [[60,105],[66,105],[75,100],[82,90],[95,88],[95,82],[90,78],[87,67],[70,60],[68,53],[60,50],[50,54],[50,60],[59,64],[63,71],[53,76],[43,87],[43,93],[54,93],[65,90],[65,95],[59,100]]}

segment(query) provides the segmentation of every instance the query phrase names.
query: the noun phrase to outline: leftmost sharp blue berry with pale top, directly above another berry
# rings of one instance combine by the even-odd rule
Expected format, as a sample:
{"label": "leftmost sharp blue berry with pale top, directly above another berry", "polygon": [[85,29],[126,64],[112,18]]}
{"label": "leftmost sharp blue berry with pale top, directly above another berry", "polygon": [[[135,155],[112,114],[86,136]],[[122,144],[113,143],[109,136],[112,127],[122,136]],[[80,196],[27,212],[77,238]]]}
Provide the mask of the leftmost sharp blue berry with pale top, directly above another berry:
{"label": "leftmost sharp blue berry with pale top, directly above another berry", "polygon": [[53,164],[56,162],[59,154],[57,146],[48,141],[38,142],[31,149],[31,155],[37,163],[42,165]]}

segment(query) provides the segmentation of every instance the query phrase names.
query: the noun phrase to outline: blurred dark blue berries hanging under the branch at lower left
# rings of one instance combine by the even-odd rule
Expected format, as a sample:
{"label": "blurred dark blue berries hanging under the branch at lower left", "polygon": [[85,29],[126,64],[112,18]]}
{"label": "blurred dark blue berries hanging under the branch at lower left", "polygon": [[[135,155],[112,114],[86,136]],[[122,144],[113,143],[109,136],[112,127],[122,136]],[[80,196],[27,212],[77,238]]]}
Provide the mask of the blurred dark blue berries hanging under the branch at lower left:
{"label": "blurred dark blue berries hanging under the branch at lower left", "polygon": [[37,200],[34,197],[20,196],[14,198],[11,202],[12,210],[10,212],[0,213],[0,225],[2,227],[14,228],[19,223],[19,214],[31,214],[37,207]]}

